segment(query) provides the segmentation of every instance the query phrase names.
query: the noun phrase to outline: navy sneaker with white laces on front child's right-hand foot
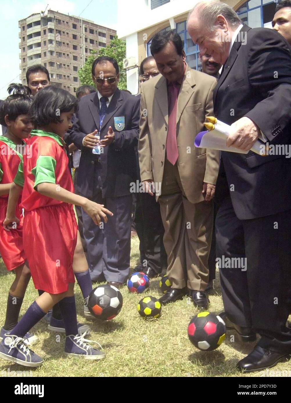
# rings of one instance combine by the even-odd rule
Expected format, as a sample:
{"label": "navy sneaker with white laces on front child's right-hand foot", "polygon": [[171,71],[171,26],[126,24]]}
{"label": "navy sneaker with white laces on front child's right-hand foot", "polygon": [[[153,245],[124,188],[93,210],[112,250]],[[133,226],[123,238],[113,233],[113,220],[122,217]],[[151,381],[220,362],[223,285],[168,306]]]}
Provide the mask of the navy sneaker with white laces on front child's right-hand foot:
{"label": "navy sneaker with white laces on front child's right-hand foot", "polygon": [[96,341],[84,339],[84,336],[86,336],[87,334],[87,332],[84,332],[84,334],[81,335],[77,334],[76,336],[74,336],[73,334],[70,334],[66,337],[65,355],[67,357],[79,357],[83,359],[105,358],[105,353],[100,350],[94,349],[94,347],[88,344],[96,343],[100,346],[99,343],[97,343]]}

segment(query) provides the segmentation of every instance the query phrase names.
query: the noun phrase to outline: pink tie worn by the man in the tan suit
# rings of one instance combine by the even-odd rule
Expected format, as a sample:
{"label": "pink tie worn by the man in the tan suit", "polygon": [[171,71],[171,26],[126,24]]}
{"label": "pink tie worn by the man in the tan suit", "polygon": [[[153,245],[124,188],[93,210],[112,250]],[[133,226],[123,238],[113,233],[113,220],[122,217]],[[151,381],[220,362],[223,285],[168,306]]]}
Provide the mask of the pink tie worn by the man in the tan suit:
{"label": "pink tie worn by the man in the tan suit", "polygon": [[170,86],[170,104],[169,104],[169,122],[168,122],[168,134],[166,142],[167,160],[172,165],[176,164],[178,160],[178,147],[176,136],[176,120],[177,120],[177,104],[178,104],[178,88],[173,83]]}

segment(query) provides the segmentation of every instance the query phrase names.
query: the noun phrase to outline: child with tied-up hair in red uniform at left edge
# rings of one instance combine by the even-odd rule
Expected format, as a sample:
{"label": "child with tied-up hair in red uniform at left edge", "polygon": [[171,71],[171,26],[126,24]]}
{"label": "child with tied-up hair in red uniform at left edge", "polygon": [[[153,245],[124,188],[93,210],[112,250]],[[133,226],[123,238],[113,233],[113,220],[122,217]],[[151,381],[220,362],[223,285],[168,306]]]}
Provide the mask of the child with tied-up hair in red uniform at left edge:
{"label": "child with tied-up hair in red uniform at left edge", "polygon": [[[30,271],[25,258],[22,243],[23,216],[20,207],[21,195],[17,200],[15,214],[19,219],[17,228],[7,232],[2,224],[6,216],[8,195],[13,179],[17,173],[23,152],[29,151],[23,139],[29,137],[33,125],[28,114],[31,106],[31,93],[28,87],[11,84],[6,98],[0,108],[0,124],[7,127],[4,136],[0,136],[0,253],[7,270],[14,270],[15,280],[9,293],[6,319],[0,330],[0,340],[5,333],[17,325],[23,297],[30,279]],[[29,344],[37,340],[33,334],[25,336]]]}

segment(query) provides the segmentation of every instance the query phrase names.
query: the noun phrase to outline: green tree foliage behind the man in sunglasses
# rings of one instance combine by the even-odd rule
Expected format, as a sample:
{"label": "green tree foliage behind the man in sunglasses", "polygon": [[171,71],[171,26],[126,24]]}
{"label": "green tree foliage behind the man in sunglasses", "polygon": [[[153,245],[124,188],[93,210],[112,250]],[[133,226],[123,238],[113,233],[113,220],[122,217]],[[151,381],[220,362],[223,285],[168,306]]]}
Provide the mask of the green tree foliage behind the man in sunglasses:
{"label": "green tree foliage behind the man in sunglasses", "polygon": [[92,64],[98,56],[113,57],[117,61],[120,74],[118,87],[119,89],[126,89],[126,71],[123,68],[123,60],[126,57],[126,42],[118,39],[116,35],[113,39],[111,39],[110,45],[107,45],[106,48],[100,48],[99,52],[96,50],[91,51],[91,54],[88,56],[84,66],[78,71],[80,83],[82,85],[88,84],[94,86],[91,73]]}

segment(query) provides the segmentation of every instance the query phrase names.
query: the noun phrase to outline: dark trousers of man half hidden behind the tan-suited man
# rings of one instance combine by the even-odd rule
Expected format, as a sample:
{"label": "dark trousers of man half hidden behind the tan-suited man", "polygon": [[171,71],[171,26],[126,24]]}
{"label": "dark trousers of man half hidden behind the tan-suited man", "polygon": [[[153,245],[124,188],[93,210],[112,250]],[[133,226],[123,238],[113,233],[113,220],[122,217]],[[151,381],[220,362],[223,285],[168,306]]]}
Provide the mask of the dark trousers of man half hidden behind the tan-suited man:
{"label": "dark trousers of man half hidden behind the tan-suited man", "polygon": [[135,229],[140,241],[140,263],[161,273],[167,267],[167,254],[163,244],[164,227],[159,203],[148,193],[136,194]]}

